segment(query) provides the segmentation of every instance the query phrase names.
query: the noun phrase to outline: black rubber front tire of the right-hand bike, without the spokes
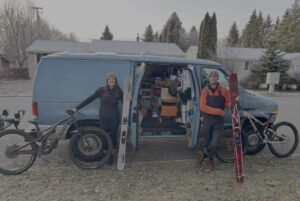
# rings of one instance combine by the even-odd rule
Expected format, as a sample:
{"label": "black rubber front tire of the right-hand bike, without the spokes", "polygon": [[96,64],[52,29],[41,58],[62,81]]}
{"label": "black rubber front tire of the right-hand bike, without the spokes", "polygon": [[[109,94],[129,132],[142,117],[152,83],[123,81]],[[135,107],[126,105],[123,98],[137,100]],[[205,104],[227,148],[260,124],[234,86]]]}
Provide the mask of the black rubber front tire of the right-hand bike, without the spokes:
{"label": "black rubber front tire of the right-hand bike, without the spokes", "polygon": [[[279,122],[277,124],[275,124],[273,127],[272,127],[272,130],[274,130],[275,132],[280,128],[280,127],[289,127],[291,129],[291,131],[293,132],[292,135],[294,137],[294,142],[292,142],[292,146],[290,149],[288,149],[288,151],[286,153],[280,153],[279,150],[277,149],[276,147],[276,144],[274,143],[269,143],[268,146],[269,146],[269,149],[270,151],[272,152],[272,154],[274,154],[275,156],[279,157],[279,158],[285,158],[285,157],[288,157],[290,156],[291,154],[293,154],[295,152],[295,150],[297,149],[298,147],[298,143],[299,143],[299,134],[298,134],[298,130],[297,128],[290,122],[286,122],[286,121],[282,121],[282,122]],[[276,140],[276,135],[272,135],[271,137],[271,141],[272,140]],[[280,139],[279,139],[280,140]]]}

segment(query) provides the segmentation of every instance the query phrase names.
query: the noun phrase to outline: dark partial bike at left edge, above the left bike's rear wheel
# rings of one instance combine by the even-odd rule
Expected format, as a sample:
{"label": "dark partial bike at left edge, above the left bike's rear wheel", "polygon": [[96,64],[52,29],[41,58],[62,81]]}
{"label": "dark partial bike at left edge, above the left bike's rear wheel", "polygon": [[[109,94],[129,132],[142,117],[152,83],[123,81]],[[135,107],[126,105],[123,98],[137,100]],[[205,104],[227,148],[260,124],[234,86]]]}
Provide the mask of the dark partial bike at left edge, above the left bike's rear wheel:
{"label": "dark partial bike at left edge, above the left bike's rear wheel", "polygon": [[0,131],[7,129],[12,124],[18,129],[18,126],[25,115],[25,110],[18,110],[17,113],[14,114],[14,118],[8,118],[9,111],[2,110],[2,114],[0,115]]}

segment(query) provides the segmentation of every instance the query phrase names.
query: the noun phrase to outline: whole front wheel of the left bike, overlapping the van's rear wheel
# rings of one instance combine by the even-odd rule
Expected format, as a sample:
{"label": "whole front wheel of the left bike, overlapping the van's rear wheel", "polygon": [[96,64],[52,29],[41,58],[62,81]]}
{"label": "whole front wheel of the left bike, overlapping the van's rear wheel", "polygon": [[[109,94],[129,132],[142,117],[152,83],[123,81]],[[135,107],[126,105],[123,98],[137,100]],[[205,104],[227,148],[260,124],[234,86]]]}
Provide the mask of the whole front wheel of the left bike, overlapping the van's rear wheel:
{"label": "whole front wheel of the left bike, overlapping the van's rear wheel", "polygon": [[[91,147],[86,147],[84,140],[87,140]],[[111,137],[97,127],[82,128],[81,135],[75,133],[70,139],[68,148],[70,160],[82,169],[95,169],[103,166],[110,159],[111,152]]]}

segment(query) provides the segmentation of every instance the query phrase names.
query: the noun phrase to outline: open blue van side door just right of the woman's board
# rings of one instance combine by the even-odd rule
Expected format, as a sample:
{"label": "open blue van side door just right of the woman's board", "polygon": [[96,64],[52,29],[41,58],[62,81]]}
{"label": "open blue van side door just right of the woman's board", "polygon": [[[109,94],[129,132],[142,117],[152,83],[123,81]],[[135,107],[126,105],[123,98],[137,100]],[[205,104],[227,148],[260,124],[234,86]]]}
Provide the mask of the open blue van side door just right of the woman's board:
{"label": "open blue van side door just right of the woman's board", "polygon": [[130,133],[131,133],[131,143],[132,146],[137,149],[138,148],[138,97],[139,97],[139,89],[141,86],[141,81],[144,76],[144,72],[146,69],[146,64],[141,63],[141,65],[134,66],[132,75],[132,104],[130,108]]}

